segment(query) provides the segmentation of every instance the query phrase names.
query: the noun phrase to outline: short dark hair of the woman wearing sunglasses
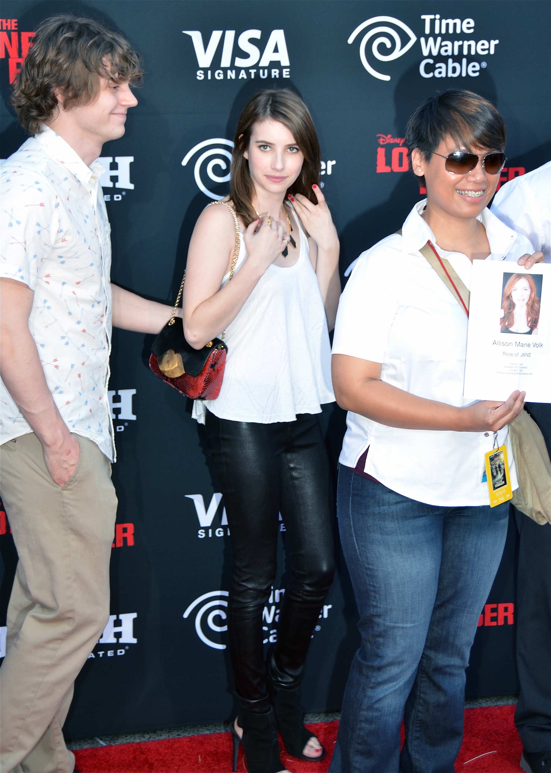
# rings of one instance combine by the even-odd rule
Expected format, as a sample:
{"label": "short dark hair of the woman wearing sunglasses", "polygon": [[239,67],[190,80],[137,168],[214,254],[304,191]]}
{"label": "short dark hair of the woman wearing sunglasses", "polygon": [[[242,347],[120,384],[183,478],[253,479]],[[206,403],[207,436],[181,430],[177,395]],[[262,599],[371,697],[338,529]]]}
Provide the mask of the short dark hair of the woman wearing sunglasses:
{"label": "short dark hair of the woman wearing sunglasses", "polygon": [[[444,137],[451,137],[458,148],[505,150],[505,124],[495,105],[464,89],[448,89],[423,102],[406,126],[407,157],[417,148],[426,161]],[[424,178],[420,181],[424,184]]]}

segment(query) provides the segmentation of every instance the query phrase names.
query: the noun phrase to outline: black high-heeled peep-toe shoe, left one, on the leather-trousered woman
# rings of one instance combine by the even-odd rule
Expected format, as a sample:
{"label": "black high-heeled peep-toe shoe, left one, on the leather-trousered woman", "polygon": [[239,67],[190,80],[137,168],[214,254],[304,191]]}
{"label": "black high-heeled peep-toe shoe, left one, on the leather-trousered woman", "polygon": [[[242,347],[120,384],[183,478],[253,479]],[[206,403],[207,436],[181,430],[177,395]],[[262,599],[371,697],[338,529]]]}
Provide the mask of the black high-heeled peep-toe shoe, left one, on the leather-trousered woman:
{"label": "black high-heeled peep-toe shoe, left one, on the leather-trousered woman", "polygon": [[274,710],[266,713],[243,711],[237,715],[237,722],[243,728],[243,737],[239,737],[232,722],[233,771],[237,770],[239,744],[247,758],[249,773],[281,773],[285,770],[279,756],[279,740]]}

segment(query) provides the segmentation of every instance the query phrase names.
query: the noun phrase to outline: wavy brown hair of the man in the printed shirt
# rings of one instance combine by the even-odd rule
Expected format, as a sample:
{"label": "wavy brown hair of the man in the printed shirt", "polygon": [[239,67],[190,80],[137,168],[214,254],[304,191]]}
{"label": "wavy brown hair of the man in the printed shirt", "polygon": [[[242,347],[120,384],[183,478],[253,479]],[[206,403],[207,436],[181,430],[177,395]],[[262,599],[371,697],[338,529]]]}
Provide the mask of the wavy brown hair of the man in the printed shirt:
{"label": "wavy brown hair of the man in the printed shirt", "polygon": [[94,19],[59,14],[37,27],[15,79],[12,105],[22,127],[34,135],[56,111],[56,89],[63,90],[64,107],[77,107],[96,96],[100,77],[139,86],[143,75],[140,57],[119,32]]}

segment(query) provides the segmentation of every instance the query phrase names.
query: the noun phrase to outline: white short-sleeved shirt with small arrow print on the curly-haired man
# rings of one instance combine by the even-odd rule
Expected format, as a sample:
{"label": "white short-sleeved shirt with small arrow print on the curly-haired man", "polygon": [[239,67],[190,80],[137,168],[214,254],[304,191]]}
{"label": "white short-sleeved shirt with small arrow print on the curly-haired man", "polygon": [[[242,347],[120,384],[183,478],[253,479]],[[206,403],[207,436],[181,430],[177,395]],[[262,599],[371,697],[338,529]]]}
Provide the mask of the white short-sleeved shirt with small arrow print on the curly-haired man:
{"label": "white short-sleeved shirt with small arrow print on the curly-haired man", "polygon": [[[107,398],[111,240],[100,175],[44,128],[2,164],[0,275],[34,291],[29,330],[70,431],[114,461]],[[32,432],[1,385],[0,441]]]}

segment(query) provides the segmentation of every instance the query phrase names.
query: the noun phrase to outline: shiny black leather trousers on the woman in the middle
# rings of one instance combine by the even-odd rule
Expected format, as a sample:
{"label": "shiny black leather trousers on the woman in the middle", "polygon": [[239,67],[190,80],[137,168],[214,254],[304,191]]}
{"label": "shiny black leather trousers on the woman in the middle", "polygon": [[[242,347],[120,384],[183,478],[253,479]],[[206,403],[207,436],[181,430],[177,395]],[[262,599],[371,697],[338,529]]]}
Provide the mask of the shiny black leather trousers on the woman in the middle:
{"label": "shiny black leather trousers on the woman in the middle", "polygon": [[236,692],[250,710],[267,699],[262,611],[276,576],[279,512],[291,559],[270,656],[272,676],[298,684],[335,572],[332,489],[318,417],[257,424],[206,411],[206,450],[223,494],[233,547],[228,634]]}

